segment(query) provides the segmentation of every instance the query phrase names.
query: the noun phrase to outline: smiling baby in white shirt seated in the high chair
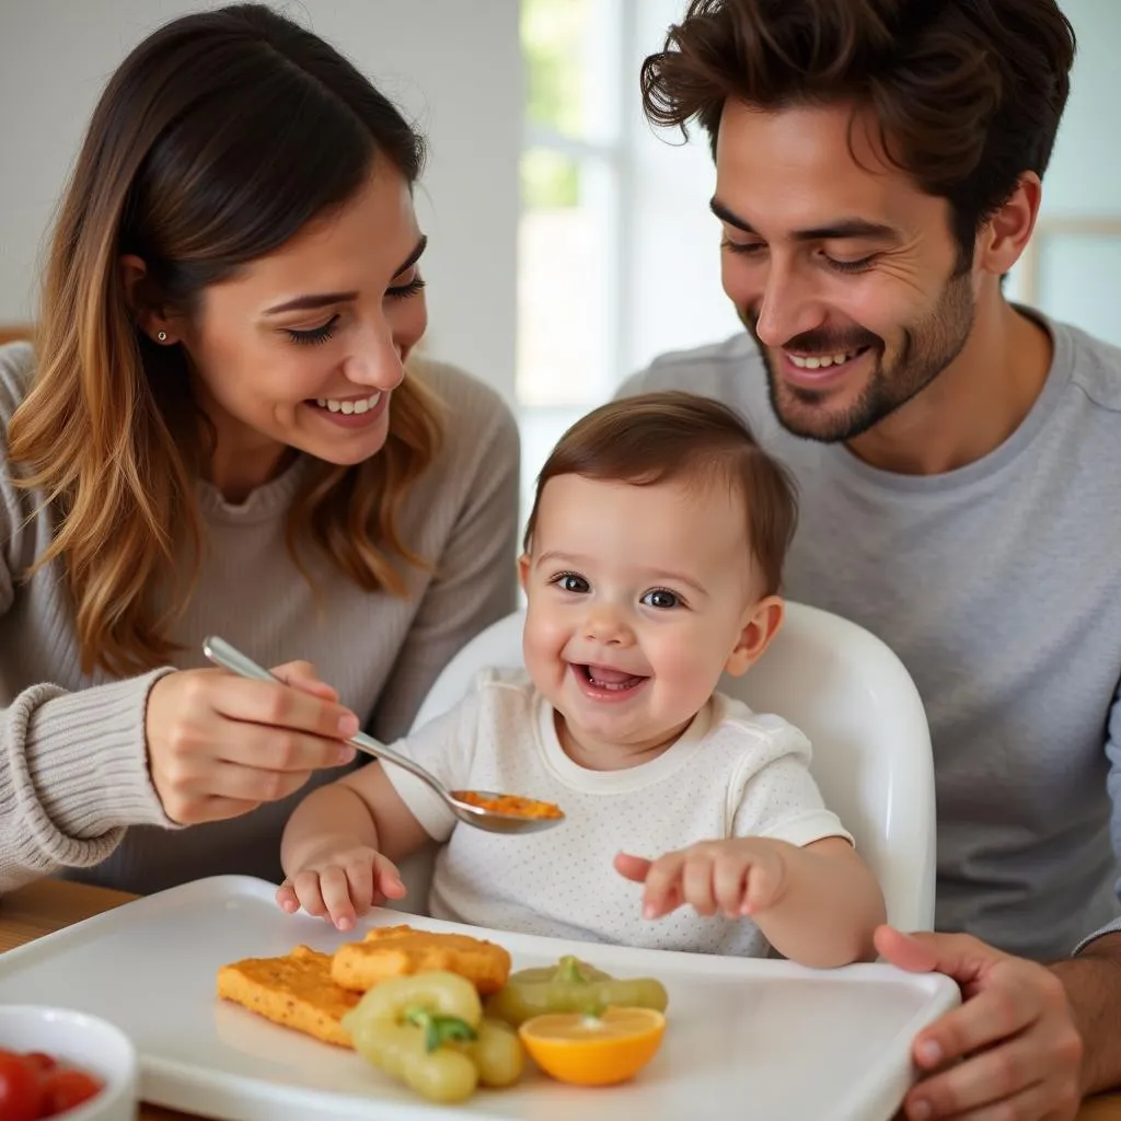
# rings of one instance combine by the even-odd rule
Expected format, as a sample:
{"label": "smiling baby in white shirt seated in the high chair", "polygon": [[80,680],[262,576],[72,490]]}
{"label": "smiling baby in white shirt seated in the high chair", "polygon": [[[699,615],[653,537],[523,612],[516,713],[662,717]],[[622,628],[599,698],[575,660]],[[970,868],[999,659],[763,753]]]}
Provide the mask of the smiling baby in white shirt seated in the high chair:
{"label": "smiling baby in white shirt seated in the high chair", "polygon": [[782,470],[688,393],[606,405],[545,464],[520,559],[525,669],[483,671],[397,751],[448,789],[556,803],[552,830],[460,825],[377,762],[309,795],[277,899],[350,929],[405,893],[435,840],[429,909],[502,930],[714,954],[874,957],[883,898],[790,724],[716,692],[782,622],[794,530]]}

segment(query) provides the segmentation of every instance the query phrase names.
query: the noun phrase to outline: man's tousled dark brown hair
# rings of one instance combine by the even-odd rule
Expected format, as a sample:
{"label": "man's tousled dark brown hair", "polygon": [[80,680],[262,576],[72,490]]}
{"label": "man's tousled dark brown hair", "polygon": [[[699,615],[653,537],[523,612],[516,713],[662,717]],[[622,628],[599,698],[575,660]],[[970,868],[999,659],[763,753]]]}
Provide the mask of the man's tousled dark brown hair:
{"label": "man's tousled dark brown hair", "polygon": [[657,124],[697,119],[715,150],[724,102],[851,102],[888,157],[948,200],[960,266],[1020,176],[1047,168],[1075,37],[1055,0],[692,0],[642,65]]}

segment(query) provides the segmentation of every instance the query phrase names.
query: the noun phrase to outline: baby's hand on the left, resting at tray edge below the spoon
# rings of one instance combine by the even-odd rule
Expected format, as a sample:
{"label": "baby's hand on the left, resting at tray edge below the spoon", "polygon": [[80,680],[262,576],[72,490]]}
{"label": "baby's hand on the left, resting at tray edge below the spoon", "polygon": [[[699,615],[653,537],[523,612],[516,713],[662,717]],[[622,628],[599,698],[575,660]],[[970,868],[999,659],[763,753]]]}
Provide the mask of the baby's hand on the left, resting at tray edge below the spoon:
{"label": "baby's hand on the left, resting at tray edge below the spoon", "polygon": [[277,888],[277,902],[289,915],[300,907],[350,930],[359,915],[387,899],[405,895],[401,873],[392,861],[365,845],[314,854]]}

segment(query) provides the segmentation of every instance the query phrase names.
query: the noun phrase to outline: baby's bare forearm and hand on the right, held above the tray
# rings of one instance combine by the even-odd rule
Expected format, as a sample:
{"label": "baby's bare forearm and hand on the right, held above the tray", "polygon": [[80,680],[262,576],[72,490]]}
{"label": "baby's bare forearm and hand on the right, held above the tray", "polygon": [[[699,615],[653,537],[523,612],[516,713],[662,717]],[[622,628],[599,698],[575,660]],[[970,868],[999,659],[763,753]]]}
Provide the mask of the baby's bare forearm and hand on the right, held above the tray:
{"label": "baby's bare forearm and hand on the right, held above the tray", "polygon": [[843,837],[802,847],[770,837],[705,841],[654,861],[620,853],[615,869],[645,883],[647,918],[687,904],[702,915],[750,917],[780,954],[803,965],[876,957],[883,895]]}

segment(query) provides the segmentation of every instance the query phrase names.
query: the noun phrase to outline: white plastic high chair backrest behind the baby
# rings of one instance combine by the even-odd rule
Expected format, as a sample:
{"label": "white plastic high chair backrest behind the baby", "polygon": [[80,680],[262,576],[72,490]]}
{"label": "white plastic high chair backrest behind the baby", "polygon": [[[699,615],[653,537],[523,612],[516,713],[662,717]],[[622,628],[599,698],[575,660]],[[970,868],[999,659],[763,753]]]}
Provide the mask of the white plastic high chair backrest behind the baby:
{"label": "white plastic high chair backrest behind the baby", "polygon": [[[414,728],[446,712],[488,666],[522,664],[525,615],[500,619],[445,667]],[[814,747],[810,770],[826,805],[856,841],[883,889],[888,920],[904,930],[934,925],[934,762],[926,713],[898,657],[862,627],[802,603],[787,603],[770,648],[722,692],[757,712],[800,728]],[[517,793],[517,791],[515,791]],[[406,861],[409,889],[395,908],[423,912],[430,851]]]}

